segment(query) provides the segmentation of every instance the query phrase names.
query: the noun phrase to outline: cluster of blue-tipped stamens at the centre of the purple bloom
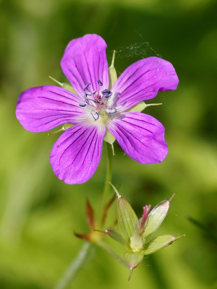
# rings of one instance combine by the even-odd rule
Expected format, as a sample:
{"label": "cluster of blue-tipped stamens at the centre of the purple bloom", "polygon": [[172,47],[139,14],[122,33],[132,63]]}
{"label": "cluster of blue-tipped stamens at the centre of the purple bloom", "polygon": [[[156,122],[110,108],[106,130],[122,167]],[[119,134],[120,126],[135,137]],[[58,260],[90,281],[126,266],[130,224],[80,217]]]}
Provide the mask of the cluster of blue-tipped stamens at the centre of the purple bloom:
{"label": "cluster of blue-tipped stamens at the centre of the purple bloom", "polygon": [[108,106],[107,98],[112,95],[112,92],[108,89],[104,89],[99,93],[99,87],[103,85],[100,80],[98,82],[98,91],[91,91],[89,86],[91,83],[87,83],[84,87],[84,102],[79,104],[79,106],[88,106],[90,113],[95,120],[99,117],[109,116],[110,114],[116,113],[117,109]]}

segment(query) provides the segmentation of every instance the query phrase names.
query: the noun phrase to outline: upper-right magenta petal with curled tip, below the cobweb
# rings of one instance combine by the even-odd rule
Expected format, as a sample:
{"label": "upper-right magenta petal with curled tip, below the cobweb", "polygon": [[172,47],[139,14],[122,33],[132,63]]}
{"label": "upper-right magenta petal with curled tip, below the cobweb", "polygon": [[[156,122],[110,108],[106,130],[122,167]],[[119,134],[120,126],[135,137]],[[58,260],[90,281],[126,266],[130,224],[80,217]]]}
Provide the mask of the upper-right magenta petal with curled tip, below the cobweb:
{"label": "upper-right magenta petal with curled tip, below the cobweb", "polygon": [[113,107],[123,112],[142,100],[155,97],[158,91],[176,89],[178,82],[170,62],[158,57],[141,59],[125,69],[114,83]]}

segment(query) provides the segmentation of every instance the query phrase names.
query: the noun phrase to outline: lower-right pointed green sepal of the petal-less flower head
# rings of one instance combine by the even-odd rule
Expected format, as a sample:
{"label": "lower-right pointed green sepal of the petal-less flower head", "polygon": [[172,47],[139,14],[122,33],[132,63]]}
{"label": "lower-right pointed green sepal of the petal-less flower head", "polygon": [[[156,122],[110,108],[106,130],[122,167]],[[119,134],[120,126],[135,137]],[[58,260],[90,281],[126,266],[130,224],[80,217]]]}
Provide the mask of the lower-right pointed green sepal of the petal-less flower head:
{"label": "lower-right pointed green sepal of the petal-less flower head", "polygon": [[178,240],[183,236],[184,235],[175,237],[170,234],[157,236],[144,246],[144,249],[142,250],[142,254],[149,255],[149,254],[155,253],[156,251],[163,249],[166,246],[171,245],[175,240]]}

